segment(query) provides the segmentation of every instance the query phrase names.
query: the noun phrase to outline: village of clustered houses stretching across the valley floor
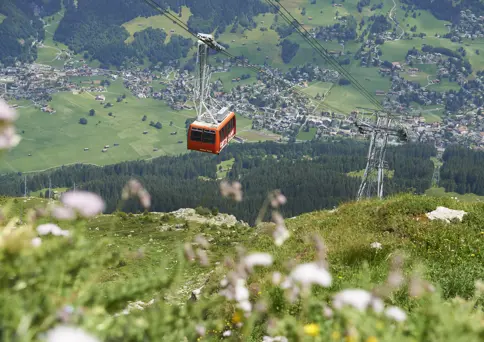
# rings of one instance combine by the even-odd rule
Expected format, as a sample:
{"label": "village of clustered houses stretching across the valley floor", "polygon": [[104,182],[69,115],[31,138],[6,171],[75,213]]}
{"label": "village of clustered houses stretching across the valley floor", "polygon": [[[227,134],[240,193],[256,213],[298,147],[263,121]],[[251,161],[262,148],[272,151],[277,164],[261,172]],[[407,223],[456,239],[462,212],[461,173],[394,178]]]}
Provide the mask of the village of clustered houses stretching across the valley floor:
{"label": "village of clustered houses stretching across the valley floor", "polygon": [[[426,105],[435,104],[444,107],[444,99],[452,94],[437,93],[424,87],[415,87],[404,74],[415,75],[419,72],[411,67],[412,62],[435,64],[438,66],[438,76],[454,75],[457,82],[463,82],[464,75],[447,63],[439,53],[417,53],[409,55],[405,64],[393,62],[380,67],[380,73],[391,78],[389,91],[377,90],[377,97],[385,97],[385,104],[398,114],[411,129],[419,135],[421,141],[433,141],[439,148],[445,148],[450,143],[466,142],[476,148],[484,147],[484,113],[480,108],[471,106],[467,110],[448,115],[442,121],[427,122],[423,115],[408,110],[398,98],[401,95],[417,97]],[[93,101],[104,104],[104,92],[108,91],[110,82],[122,80],[126,91],[136,96],[140,101],[146,98],[166,102],[174,110],[193,109],[191,102],[192,80],[187,71],[172,67],[162,71],[134,69],[129,71],[113,71],[89,67],[80,61],[79,67],[67,64],[63,70],[47,65],[27,64],[0,69],[1,92],[11,99],[27,99],[39,111],[55,115],[56,109],[49,101],[52,94],[71,92],[73,94],[91,93]],[[243,67],[242,62],[226,61],[224,66],[215,68],[212,76],[214,97],[232,108],[239,115],[252,120],[254,130],[268,130],[290,139],[300,130],[316,129],[315,138],[325,136],[353,137],[357,135],[354,122],[360,114],[355,108],[350,113],[342,113],[324,106],[324,94],[311,99],[292,92],[292,88],[304,91],[309,85],[308,73],[296,70],[284,74],[271,70],[275,78],[260,77],[253,83],[237,85],[227,91],[225,85],[218,79],[222,73],[230,72],[232,67]],[[267,68],[269,69],[269,68]],[[269,69],[270,70],[270,69]],[[338,73],[332,70],[314,67],[312,81],[336,82]],[[97,78],[98,81],[77,81],[76,78]],[[279,82],[277,86],[275,83]],[[482,90],[484,76],[478,78]],[[240,78],[231,79],[238,84]],[[309,83],[308,83],[309,82]],[[430,78],[429,85],[440,82],[440,78]],[[154,90],[157,85],[159,90]],[[160,88],[161,86],[161,88]],[[109,105],[109,104],[108,104]],[[39,114],[40,115],[40,114]],[[294,138],[293,138],[294,140]],[[243,141],[243,140],[239,140]]]}

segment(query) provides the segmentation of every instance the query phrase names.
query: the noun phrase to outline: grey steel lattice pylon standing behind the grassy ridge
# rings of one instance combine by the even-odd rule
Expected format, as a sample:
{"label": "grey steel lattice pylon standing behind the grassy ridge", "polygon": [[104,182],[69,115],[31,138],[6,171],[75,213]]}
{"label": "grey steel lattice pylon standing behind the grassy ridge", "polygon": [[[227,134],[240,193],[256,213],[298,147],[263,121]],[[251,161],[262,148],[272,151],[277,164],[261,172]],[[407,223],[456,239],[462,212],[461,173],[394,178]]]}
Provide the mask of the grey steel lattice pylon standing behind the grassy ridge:
{"label": "grey steel lattice pylon standing behind the grassy ridge", "polygon": [[[385,162],[388,138],[397,137],[400,141],[407,141],[407,132],[403,127],[394,127],[390,116],[379,116],[375,124],[357,122],[356,126],[361,134],[371,134],[370,147],[368,149],[367,164],[358,189],[357,200],[364,197],[372,197],[374,182],[371,177],[376,173],[376,194],[383,197],[384,170],[388,168]],[[393,126],[393,127],[392,127]]]}

